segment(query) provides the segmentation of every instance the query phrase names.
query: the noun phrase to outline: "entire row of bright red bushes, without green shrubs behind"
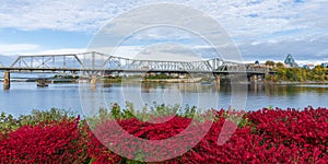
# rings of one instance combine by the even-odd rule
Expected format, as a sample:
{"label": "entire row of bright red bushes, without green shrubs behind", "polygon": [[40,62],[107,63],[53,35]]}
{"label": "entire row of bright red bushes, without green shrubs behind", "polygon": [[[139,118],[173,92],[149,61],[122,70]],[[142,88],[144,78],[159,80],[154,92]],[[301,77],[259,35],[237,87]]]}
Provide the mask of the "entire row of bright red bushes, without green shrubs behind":
{"label": "entire row of bright red bushes, without green shrubs behind", "polygon": [[[224,110],[212,113],[215,119],[211,127],[207,127],[209,119],[191,121],[191,118],[185,117],[174,117],[163,124],[143,122],[136,118],[107,119],[92,131],[86,126],[79,126],[79,118],[23,126],[0,136],[0,163],[87,163],[89,160],[92,163],[127,163],[129,159],[162,160],[160,163],[167,164],[328,162],[326,108],[248,112],[243,116],[247,124],[242,127],[233,119],[225,119]],[[167,120],[165,117],[157,119]],[[189,131],[186,132],[186,128]],[[200,142],[188,148],[195,136],[207,128],[210,129]],[[185,136],[177,143],[160,142],[181,132]],[[128,141],[131,138],[159,142],[138,144],[137,140]],[[120,148],[119,154],[130,155],[122,157],[105,145]],[[163,152],[165,155],[181,150],[188,151],[172,160],[161,159]]]}

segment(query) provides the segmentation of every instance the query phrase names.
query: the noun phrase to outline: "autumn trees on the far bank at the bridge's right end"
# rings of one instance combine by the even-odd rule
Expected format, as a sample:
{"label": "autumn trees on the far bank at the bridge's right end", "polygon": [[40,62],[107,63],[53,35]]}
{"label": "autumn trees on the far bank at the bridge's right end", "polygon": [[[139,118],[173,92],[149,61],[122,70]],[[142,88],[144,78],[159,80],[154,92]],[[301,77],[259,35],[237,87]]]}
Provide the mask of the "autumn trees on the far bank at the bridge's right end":
{"label": "autumn trees on the far bank at the bridge's right end", "polygon": [[306,82],[306,81],[317,81],[324,82],[328,81],[328,68],[323,68],[321,66],[316,66],[314,69],[306,68],[272,68],[277,71],[277,74],[267,75],[267,81],[291,81],[291,82]]}

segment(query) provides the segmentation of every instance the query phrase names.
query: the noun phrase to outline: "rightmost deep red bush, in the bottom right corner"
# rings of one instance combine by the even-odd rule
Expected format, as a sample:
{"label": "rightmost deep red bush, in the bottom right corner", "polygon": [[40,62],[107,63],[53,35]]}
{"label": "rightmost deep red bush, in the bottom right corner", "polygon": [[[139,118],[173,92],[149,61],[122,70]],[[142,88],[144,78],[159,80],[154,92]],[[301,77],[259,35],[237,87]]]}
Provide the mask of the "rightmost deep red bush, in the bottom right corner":
{"label": "rightmost deep red bush, in the bottom right corner", "polygon": [[313,107],[266,109],[250,112],[247,118],[255,124],[255,134],[261,144],[292,151],[290,159],[298,163],[327,163],[328,110]]}

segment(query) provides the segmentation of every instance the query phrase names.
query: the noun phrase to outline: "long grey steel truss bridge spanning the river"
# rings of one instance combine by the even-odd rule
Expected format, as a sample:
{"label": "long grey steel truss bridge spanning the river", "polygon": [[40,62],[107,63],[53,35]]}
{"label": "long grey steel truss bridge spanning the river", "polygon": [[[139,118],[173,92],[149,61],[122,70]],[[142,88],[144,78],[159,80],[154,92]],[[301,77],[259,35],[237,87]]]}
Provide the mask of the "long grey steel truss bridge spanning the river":
{"label": "long grey steel truss bridge spanning the river", "polygon": [[253,74],[270,73],[268,69],[253,68],[244,63],[224,61],[220,58],[200,61],[139,60],[115,57],[96,51],[67,55],[19,56],[10,67],[0,67],[10,72],[86,72],[89,75],[101,73],[214,73]]}

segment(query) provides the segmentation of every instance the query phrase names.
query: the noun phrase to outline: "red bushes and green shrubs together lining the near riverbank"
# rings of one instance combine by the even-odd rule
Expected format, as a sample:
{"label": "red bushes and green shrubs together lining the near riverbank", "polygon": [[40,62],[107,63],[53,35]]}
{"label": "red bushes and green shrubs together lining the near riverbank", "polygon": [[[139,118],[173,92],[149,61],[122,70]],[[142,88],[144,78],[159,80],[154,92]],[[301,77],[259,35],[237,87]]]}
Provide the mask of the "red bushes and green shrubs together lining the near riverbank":
{"label": "red bushes and green shrubs together lining the near riverbank", "polygon": [[[165,121],[164,121],[165,120]],[[327,163],[328,109],[262,108],[253,112],[156,105],[140,110],[127,103],[112,104],[97,115],[81,118],[63,109],[33,110],[31,115],[0,116],[0,161],[3,163]],[[121,133],[115,125],[129,134]],[[186,153],[200,129],[210,129]],[[186,128],[189,134],[169,145],[139,147],[126,139],[164,140]],[[222,130],[225,127],[225,130]],[[219,138],[219,136],[223,138]],[[222,143],[221,143],[222,142]],[[219,144],[220,143],[220,144]],[[110,145],[121,156],[105,145]],[[163,157],[163,159],[162,159]]]}

